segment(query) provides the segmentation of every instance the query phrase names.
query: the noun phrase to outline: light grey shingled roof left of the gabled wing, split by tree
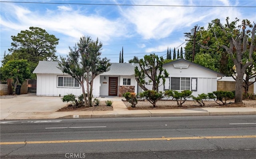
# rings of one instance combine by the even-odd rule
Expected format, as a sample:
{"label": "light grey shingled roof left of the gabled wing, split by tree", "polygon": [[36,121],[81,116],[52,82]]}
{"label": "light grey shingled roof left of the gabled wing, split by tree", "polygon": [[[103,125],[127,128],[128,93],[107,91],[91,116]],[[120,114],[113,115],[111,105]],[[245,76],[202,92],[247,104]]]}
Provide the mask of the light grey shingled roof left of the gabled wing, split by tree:
{"label": "light grey shingled roof left of the gabled wing, split by tree", "polygon": [[[111,76],[130,76],[134,74],[134,68],[139,64],[130,63],[112,63],[110,71],[104,72],[101,75]],[[57,68],[58,61],[39,61],[38,66],[34,70],[34,74],[63,74],[63,72]]]}

